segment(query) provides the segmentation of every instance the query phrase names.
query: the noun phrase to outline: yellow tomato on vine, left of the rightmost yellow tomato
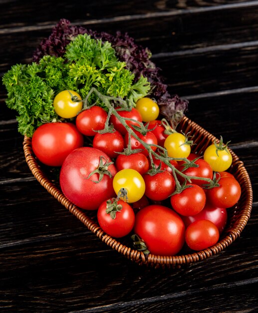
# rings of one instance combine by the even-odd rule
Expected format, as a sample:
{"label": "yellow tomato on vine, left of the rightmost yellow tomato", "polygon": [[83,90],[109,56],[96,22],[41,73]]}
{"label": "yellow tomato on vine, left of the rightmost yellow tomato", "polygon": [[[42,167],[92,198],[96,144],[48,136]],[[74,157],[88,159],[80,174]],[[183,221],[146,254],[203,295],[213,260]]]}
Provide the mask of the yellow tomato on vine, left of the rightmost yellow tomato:
{"label": "yellow tomato on vine, left of the rightmost yellow tomato", "polygon": [[191,152],[191,145],[187,142],[185,135],[179,132],[171,133],[164,142],[169,157],[188,157]]}

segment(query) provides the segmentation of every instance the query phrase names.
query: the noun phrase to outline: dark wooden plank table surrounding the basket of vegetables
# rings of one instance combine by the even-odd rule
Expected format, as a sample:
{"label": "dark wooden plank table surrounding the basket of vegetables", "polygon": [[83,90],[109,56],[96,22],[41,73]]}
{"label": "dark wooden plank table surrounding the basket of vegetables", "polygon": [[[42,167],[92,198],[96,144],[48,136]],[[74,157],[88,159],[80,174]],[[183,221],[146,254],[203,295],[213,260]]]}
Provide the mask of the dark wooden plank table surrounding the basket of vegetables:
{"label": "dark wooden plank table surrounding the basket of vegetables", "polygon": [[31,174],[0,85],[0,310],[258,311],[258,1],[0,1],[0,75],[31,61],[60,18],[148,46],[187,116],[244,161],[251,218],[232,245],[183,269],[138,266],[107,247]]}

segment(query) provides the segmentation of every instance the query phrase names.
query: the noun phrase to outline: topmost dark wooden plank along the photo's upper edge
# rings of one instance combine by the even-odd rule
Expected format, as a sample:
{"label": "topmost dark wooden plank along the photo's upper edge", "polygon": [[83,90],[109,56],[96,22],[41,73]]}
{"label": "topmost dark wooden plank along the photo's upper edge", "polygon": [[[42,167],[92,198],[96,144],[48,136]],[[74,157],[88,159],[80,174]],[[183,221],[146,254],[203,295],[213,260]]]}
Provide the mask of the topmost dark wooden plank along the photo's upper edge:
{"label": "topmost dark wooden plank along the photo's upper edge", "polygon": [[[98,2],[80,3],[80,14],[78,10],[71,9],[71,2],[68,0],[62,3],[46,0],[38,2],[35,6],[33,2],[25,1],[1,1],[0,6],[0,29],[18,28],[18,27],[48,27],[55,23],[59,18],[67,18],[75,23],[93,24],[98,20],[114,22],[116,19],[132,20],[144,19],[145,15],[153,16],[173,16],[176,14],[189,14],[195,11],[222,10],[224,8],[242,8],[254,6],[256,1],[234,0],[234,1],[104,1],[101,3],[101,9]],[[51,9],[49,9],[51,7]],[[22,12],[22,14],[20,13]],[[40,12],[40,14],[38,14]],[[103,16],[103,12],[105,12]],[[47,21],[45,16],[47,16]]]}

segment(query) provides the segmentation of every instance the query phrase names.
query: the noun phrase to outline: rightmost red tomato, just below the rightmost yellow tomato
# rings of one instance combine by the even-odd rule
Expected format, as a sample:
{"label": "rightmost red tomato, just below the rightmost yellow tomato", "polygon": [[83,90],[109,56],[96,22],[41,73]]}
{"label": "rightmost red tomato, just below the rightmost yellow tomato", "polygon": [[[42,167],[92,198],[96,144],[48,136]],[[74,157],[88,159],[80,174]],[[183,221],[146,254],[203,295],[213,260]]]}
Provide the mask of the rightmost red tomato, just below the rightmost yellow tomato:
{"label": "rightmost red tomato, just below the rightmost yellow tomato", "polygon": [[223,176],[219,180],[219,187],[206,190],[207,200],[218,207],[228,208],[234,206],[241,196],[241,186],[237,179]]}

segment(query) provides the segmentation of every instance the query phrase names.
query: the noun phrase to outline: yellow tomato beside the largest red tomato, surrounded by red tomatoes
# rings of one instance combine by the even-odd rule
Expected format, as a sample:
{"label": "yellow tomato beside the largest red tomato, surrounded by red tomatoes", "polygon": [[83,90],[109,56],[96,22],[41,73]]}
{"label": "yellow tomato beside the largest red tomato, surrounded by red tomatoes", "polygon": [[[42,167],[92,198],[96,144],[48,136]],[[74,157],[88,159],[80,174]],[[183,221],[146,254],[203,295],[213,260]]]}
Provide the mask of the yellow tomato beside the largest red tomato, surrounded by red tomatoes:
{"label": "yellow tomato beside the largest red tomato, surrounded by red tomatoes", "polygon": [[145,182],[142,175],[132,168],[125,168],[119,170],[113,179],[113,188],[118,195],[121,188],[126,189],[127,198],[122,196],[122,193],[119,193],[119,196],[122,200],[129,203],[136,202],[144,195],[145,192]]}

